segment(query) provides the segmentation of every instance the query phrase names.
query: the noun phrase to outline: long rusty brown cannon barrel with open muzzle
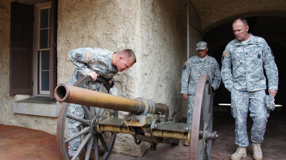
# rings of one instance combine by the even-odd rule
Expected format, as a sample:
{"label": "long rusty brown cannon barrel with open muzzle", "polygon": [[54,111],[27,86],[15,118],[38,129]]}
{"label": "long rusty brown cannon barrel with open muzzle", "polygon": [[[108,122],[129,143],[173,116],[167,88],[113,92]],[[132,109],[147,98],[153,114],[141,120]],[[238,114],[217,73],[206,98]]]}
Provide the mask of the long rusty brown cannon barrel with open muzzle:
{"label": "long rusty brown cannon barrel with open muzzle", "polygon": [[155,104],[151,100],[141,97],[130,99],[114,96],[63,83],[57,85],[54,96],[58,102],[119,110],[132,114],[164,114],[166,118],[169,116],[169,108],[165,104]]}

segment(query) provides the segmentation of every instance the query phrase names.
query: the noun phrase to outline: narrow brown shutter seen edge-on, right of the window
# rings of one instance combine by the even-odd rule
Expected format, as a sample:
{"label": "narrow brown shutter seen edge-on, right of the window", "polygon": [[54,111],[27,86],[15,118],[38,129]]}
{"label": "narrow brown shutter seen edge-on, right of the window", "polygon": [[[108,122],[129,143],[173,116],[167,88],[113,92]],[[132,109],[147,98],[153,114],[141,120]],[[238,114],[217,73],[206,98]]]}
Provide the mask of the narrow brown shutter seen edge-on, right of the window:
{"label": "narrow brown shutter seen edge-on, right of the window", "polygon": [[57,86],[57,0],[51,1],[50,98]]}

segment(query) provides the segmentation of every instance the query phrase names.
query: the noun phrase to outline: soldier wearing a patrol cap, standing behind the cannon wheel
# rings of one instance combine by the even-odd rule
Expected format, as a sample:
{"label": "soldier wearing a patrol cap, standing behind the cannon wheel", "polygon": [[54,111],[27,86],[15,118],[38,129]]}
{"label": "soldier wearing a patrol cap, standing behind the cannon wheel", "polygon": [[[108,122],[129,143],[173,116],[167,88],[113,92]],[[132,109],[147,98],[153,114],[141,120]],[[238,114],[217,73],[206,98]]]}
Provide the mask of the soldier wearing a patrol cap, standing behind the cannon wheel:
{"label": "soldier wearing a patrol cap, standing behind the cannon wheel", "polygon": [[[182,98],[188,100],[188,112],[187,112],[187,123],[192,123],[192,114],[194,106],[194,98],[196,94],[196,87],[198,80],[202,74],[207,74],[212,81],[213,90],[219,88],[221,84],[221,70],[217,60],[215,58],[208,56],[206,52],[208,51],[206,42],[198,42],[196,44],[196,50],[198,55],[188,58],[184,63],[182,68]],[[184,145],[190,146],[188,140],[184,142]]]}

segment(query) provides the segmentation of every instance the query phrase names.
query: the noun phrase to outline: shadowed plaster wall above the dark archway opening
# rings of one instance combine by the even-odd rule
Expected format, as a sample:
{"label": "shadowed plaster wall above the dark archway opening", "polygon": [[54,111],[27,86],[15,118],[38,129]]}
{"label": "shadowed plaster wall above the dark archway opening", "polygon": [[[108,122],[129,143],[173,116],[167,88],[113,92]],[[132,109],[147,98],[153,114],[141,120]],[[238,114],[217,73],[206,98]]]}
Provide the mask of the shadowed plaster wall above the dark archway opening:
{"label": "shadowed plaster wall above the dark archway opening", "polygon": [[284,0],[192,0],[200,16],[202,31],[205,34],[226,22],[234,21],[238,17],[253,16],[281,16],[286,17],[286,3]]}

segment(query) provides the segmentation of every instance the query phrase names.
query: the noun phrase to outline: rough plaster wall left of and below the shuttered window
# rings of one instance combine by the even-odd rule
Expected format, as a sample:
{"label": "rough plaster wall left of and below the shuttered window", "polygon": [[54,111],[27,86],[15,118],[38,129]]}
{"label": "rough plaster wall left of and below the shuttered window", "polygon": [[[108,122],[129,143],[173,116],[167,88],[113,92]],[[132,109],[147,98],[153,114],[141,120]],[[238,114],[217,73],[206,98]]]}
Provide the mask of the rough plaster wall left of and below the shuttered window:
{"label": "rough plaster wall left of and below the shuttered window", "polygon": [[57,118],[13,113],[13,102],[29,98],[30,96],[9,96],[11,0],[0,1],[0,6],[0,54],[2,57],[0,63],[0,123],[5,125],[17,125],[21,127],[43,130],[47,133],[55,135]]}

